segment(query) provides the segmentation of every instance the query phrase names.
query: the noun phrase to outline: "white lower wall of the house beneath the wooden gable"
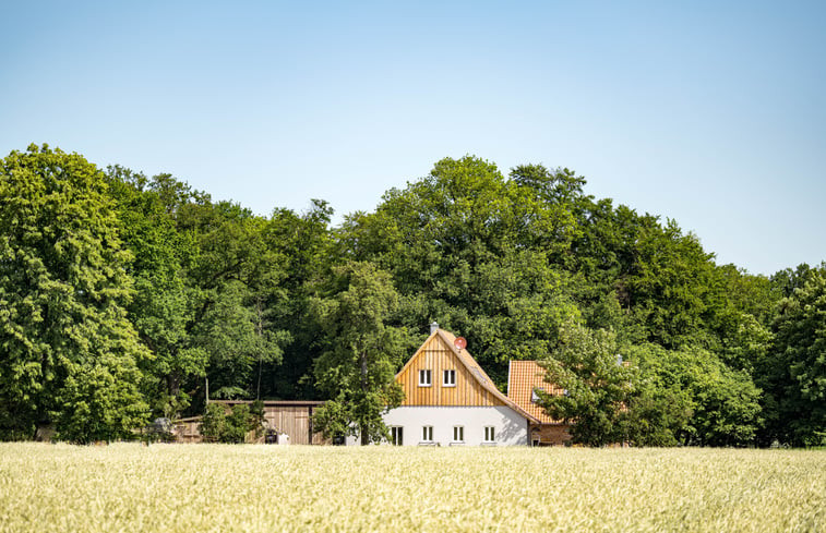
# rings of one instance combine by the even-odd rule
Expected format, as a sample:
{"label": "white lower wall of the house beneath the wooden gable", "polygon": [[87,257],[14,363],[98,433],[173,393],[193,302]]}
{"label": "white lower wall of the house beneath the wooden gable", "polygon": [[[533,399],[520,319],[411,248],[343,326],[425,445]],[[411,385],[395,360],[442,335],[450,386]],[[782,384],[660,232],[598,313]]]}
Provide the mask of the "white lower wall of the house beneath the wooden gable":
{"label": "white lower wall of the house beneath the wooden gable", "polygon": [[[424,425],[433,426],[433,443],[440,446],[480,446],[484,426],[495,428],[496,446],[528,444],[527,421],[507,407],[402,407],[385,414],[384,423],[404,427],[405,446],[421,444]],[[464,444],[453,443],[453,426],[457,425],[465,427]]]}

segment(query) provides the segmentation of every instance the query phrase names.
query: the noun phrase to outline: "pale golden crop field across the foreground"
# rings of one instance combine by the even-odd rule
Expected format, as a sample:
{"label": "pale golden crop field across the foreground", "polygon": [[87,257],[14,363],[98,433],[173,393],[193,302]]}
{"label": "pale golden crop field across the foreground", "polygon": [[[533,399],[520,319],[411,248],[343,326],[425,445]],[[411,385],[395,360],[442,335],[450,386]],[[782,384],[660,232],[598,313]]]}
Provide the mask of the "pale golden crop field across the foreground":
{"label": "pale golden crop field across the foreground", "polygon": [[826,531],[826,451],[0,445],[0,532]]}

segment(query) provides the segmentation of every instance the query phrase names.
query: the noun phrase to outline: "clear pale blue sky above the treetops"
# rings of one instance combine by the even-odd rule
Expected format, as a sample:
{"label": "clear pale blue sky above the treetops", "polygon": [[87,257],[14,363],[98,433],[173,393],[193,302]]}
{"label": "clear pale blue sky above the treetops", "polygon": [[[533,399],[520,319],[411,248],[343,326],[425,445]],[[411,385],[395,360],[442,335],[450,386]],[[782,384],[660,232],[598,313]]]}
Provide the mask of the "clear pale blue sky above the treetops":
{"label": "clear pale blue sky above the treetops", "polygon": [[340,216],[474,154],[574,169],[719,264],[826,259],[823,1],[13,1],[2,20],[2,156],[48,143],[261,215]]}

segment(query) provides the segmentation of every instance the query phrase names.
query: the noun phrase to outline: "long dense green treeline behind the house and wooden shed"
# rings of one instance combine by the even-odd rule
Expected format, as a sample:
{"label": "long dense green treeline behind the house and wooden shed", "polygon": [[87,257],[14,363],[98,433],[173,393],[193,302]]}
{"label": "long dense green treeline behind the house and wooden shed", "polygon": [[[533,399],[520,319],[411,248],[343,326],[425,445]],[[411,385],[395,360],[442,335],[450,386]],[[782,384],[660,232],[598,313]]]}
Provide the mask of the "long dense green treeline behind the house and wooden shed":
{"label": "long dense green treeline behind the house and wooden shed", "polygon": [[323,201],[261,217],[33,145],[0,199],[3,439],[129,438],[202,413],[207,383],[369,426],[438,320],[502,389],[546,361],[584,443],[826,444],[826,265],[718,266],[567,169],[443,159],[333,226]]}

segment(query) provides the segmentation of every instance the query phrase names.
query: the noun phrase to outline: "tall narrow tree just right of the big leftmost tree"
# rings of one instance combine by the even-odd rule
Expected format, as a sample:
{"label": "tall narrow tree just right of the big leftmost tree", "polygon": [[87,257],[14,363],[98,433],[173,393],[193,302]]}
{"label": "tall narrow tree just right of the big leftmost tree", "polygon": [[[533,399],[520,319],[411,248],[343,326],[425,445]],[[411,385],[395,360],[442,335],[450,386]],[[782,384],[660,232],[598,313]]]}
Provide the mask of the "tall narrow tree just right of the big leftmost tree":
{"label": "tall narrow tree just right of the big leftmost tree", "polygon": [[130,265],[135,296],[129,315],[141,342],[153,358],[141,362],[142,389],[153,414],[175,419],[189,407],[181,383],[203,377],[208,354],[192,335],[203,292],[188,272],[200,254],[194,232],[182,232],[177,216],[208,196],[169,174],[147,179],[116,166],[108,169],[108,194],[115,201],[123,243],[132,252]]}

